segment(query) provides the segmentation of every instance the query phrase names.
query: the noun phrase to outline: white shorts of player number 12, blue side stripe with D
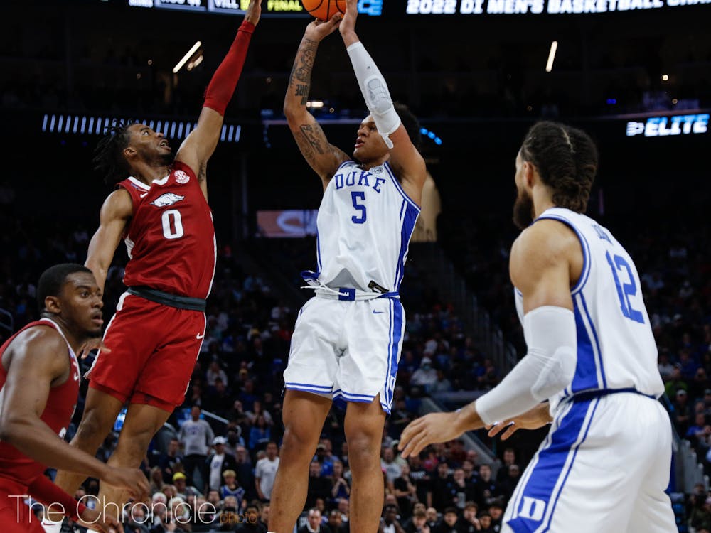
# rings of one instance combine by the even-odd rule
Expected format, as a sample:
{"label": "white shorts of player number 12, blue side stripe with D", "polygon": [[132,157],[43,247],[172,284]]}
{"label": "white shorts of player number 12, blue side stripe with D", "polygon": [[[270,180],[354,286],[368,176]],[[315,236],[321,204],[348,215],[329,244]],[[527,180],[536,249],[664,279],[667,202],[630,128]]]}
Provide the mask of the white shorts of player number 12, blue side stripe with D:
{"label": "white shorts of player number 12, blue side stripe with D", "polygon": [[641,394],[560,404],[501,532],[675,532],[671,446],[668,414]]}

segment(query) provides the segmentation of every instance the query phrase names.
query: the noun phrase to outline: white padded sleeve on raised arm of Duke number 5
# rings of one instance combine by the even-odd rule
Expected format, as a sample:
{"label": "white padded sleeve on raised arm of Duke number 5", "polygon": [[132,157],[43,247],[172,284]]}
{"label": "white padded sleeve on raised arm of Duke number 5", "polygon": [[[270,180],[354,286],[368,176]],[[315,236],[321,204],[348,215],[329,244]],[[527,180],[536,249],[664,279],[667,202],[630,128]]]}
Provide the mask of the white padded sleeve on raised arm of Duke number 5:
{"label": "white padded sleeve on raised arm of Duke number 5", "polygon": [[390,91],[387,90],[385,78],[380,74],[378,65],[370,57],[368,50],[360,41],[357,41],[346,48],[348,57],[353,63],[353,71],[360,85],[360,92],[363,92],[365,105],[368,106],[370,114],[375,119],[375,127],[378,133],[383,136],[388,148],[392,148],[392,141],[388,137],[393,131],[400,127],[400,116],[395,111],[390,99]]}

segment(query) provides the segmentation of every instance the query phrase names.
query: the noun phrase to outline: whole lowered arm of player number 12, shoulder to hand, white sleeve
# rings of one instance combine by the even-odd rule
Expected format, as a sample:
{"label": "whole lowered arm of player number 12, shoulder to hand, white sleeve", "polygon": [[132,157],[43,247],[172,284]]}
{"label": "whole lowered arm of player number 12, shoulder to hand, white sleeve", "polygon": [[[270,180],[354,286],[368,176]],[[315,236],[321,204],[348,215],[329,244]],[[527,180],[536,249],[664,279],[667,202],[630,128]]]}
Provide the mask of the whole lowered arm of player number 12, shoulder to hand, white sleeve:
{"label": "whole lowered arm of player number 12, shoulder to hand, white sleeve", "polygon": [[[555,220],[540,220],[511,249],[511,281],[523,294],[523,333],[528,352],[496,387],[454,413],[429,414],[400,438],[402,456],[464,431],[508,422],[565,389],[577,365],[577,333],[570,281],[579,276],[580,243]],[[539,409],[544,409],[539,407]],[[535,413],[533,413],[535,414]],[[540,413],[538,413],[540,414]],[[545,424],[545,416],[536,417]]]}

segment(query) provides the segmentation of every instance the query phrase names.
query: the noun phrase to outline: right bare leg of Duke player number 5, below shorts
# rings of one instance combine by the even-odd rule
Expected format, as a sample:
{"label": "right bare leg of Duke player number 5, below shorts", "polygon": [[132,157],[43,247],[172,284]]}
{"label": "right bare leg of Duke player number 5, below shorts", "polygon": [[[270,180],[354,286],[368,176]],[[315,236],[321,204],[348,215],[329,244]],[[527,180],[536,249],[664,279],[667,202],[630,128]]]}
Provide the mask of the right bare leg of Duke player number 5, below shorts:
{"label": "right bare leg of Duke player number 5, below shorts", "polygon": [[353,474],[351,490],[351,531],[377,531],[383,512],[383,470],[380,468],[380,443],[383,441],[385,411],[380,395],[373,402],[348,402],[346,441],[348,464]]}

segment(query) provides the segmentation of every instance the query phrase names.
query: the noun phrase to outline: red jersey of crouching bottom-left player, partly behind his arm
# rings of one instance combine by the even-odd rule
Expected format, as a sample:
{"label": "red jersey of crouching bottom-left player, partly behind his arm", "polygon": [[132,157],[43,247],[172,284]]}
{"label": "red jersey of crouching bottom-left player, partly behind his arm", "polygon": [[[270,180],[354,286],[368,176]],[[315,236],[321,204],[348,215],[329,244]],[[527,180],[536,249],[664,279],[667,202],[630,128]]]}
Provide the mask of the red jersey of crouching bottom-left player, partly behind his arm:
{"label": "red jersey of crouching bottom-left player, partly behind his arm", "polygon": [[[0,347],[0,357],[2,357],[5,350],[7,350],[7,347],[14,340],[14,338],[17,337],[17,335],[26,329],[37,327],[54,328],[64,338],[64,333],[62,333],[62,330],[58,325],[56,325],[49,318],[42,318],[40,321],[29,323],[17,333],[12,335],[11,338],[6,340],[4,345]],[[64,338],[64,340],[66,341],[67,339]],[[77,357],[74,355],[74,351],[69,343],[67,343],[67,357],[69,358],[70,365],[69,377],[63,384],[50,389],[47,404],[45,405],[45,409],[42,411],[42,416],[40,417],[45,424],[50,426],[52,431],[60,436],[60,438],[64,438],[70,421],[72,421],[74,409],[77,407],[77,395],[79,394],[79,363],[77,362]],[[0,398],[4,392],[3,388],[5,387],[6,379],[7,371],[2,365],[0,365]],[[26,383],[24,385],[26,387],[33,386],[31,383]],[[0,441],[1,477],[10,478],[14,481],[22,483],[23,485],[30,485],[32,480],[38,475],[42,475],[46,468],[46,465],[28,458],[14,446]]]}

